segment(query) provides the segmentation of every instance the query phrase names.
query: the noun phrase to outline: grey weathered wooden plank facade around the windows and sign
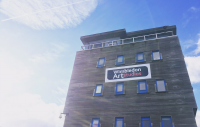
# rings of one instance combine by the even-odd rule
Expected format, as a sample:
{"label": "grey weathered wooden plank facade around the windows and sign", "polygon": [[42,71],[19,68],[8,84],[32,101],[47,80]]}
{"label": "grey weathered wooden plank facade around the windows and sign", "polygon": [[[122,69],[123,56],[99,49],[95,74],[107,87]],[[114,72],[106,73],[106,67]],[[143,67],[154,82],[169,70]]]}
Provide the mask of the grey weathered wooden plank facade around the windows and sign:
{"label": "grey weathered wooden plank facade around the windows and sign", "polygon": [[[137,33],[152,33],[155,29],[161,28]],[[176,31],[175,27],[172,29]],[[134,33],[127,33],[126,36],[134,36]],[[154,50],[162,53],[161,60],[152,60]],[[143,63],[135,60],[139,52],[144,52],[146,61]],[[115,63],[118,55],[124,55],[125,58],[125,63],[120,66],[150,64],[152,78],[144,79],[148,86],[147,93],[138,93],[140,80],[124,81],[125,94],[122,95],[115,95],[117,82],[105,83],[105,69],[117,67]],[[104,57],[105,66],[97,67],[99,58]],[[155,91],[156,79],[165,80],[166,92]],[[102,96],[93,96],[97,84],[103,84]],[[139,127],[141,117],[150,117],[152,127],[161,127],[161,116],[171,116],[174,127],[197,127],[196,110],[193,88],[175,34],[160,39],[78,51],[65,103],[64,127],[90,127],[93,118],[100,118],[101,127],[114,127],[116,117],[123,117],[126,127]]]}

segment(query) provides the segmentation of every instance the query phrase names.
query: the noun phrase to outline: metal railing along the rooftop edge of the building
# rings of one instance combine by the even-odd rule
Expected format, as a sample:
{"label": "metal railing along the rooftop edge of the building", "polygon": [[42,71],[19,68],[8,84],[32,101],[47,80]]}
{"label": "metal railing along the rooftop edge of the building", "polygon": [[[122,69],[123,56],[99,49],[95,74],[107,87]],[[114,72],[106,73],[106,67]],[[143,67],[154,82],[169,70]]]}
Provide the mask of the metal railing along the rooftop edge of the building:
{"label": "metal railing along the rooftop edge of the building", "polygon": [[113,41],[105,41],[101,43],[84,45],[84,46],[81,46],[81,48],[82,50],[90,50],[90,49],[103,48],[103,47],[109,47],[109,46],[123,45],[123,44],[128,44],[128,43],[136,43],[136,42],[141,42],[141,41],[146,41],[146,40],[154,40],[154,39],[169,37],[169,36],[173,36],[173,31],[161,32],[161,33],[155,33],[155,34],[137,36],[137,37],[132,37],[132,38],[113,40]]}

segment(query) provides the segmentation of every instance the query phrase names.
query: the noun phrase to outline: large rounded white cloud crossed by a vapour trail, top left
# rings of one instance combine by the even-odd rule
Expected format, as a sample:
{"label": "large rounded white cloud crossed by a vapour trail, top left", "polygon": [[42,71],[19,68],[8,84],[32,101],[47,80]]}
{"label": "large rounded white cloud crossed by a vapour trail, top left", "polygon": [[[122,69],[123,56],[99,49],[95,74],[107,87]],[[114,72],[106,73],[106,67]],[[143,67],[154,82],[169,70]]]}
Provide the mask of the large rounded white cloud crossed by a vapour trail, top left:
{"label": "large rounded white cloud crossed by a vapour trail, top left", "polygon": [[0,12],[33,29],[66,28],[80,24],[97,6],[97,0],[82,1],[1,0]]}

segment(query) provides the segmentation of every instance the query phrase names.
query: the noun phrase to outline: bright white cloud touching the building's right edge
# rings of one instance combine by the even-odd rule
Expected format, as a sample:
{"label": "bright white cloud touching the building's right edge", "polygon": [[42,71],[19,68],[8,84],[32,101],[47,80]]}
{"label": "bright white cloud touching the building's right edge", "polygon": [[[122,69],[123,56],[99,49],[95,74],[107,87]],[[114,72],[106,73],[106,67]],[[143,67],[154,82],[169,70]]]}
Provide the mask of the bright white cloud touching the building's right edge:
{"label": "bright white cloud touching the building's right edge", "polygon": [[187,70],[192,83],[200,82],[200,56],[185,57]]}

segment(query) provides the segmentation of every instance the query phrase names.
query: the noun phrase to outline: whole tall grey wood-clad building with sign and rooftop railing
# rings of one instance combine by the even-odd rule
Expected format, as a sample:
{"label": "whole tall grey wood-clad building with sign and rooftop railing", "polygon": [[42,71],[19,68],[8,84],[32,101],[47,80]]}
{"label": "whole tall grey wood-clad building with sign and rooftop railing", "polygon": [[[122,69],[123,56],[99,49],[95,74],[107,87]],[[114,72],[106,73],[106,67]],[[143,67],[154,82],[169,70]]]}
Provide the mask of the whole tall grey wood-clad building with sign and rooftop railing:
{"label": "whole tall grey wood-clad building with sign and rooftop railing", "polygon": [[197,127],[176,26],[82,36],[64,127]]}

